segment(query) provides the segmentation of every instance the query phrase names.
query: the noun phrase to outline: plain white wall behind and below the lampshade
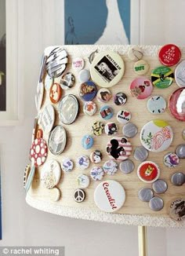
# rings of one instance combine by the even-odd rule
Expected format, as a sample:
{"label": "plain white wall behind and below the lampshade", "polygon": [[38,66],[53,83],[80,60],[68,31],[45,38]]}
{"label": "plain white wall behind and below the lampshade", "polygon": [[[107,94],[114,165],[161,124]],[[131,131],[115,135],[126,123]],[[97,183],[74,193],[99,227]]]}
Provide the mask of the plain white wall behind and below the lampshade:
{"label": "plain white wall behind and below the lampshade", "polygon": [[[59,0],[56,1],[59,2]],[[135,226],[62,218],[35,210],[25,203],[22,181],[36,113],[34,93],[38,82],[40,58],[45,46],[59,43],[57,42],[59,39],[51,30],[53,24],[51,9],[47,9],[47,13],[50,13],[47,19],[48,24],[43,26],[42,17],[46,13],[43,13],[42,7],[45,2],[51,3],[54,0],[24,1],[24,70],[22,71],[24,75],[24,124],[16,127],[0,127],[3,213],[3,240],[0,242],[0,246],[65,246],[67,256],[105,254],[107,256],[136,256],[138,244],[137,227]],[[146,21],[142,42],[162,44],[167,40],[174,42],[173,38],[175,38],[179,40],[176,42],[183,44],[185,35],[182,35],[182,38],[175,26],[175,24],[179,24],[178,19],[180,19],[180,24],[185,22],[185,17],[179,17],[180,15],[176,14],[183,13],[183,5],[176,6],[176,13],[174,13],[173,0],[168,1],[169,10],[165,13],[171,13],[171,15],[167,18],[176,16],[172,28],[174,34],[171,35],[169,32],[167,33],[169,31],[167,22],[165,33],[165,26],[161,26],[164,12],[161,5],[157,6],[161,1],[155,0],[156,5],[151,0],[144,2],[146,13],[143,16]],[[183,4],[183,0],[178,2]],[[159,8],[159,6],[161,7]],[[152,31],[151,24],[154,24],[154,20],[158,27]],[[161,29],[161,27],[163,28]],[[185,230],[148,228],[147,231],[149,256],[175,256],[184,253]]]}

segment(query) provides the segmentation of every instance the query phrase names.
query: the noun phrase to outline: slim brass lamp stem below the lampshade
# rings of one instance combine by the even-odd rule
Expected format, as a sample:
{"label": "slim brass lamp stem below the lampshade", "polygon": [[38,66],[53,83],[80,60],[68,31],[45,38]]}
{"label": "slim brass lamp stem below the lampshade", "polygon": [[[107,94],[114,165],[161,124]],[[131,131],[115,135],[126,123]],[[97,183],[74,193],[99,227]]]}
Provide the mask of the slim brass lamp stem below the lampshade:
{"label": "slim brass lamp stem below the lampshade", "polygon": [[147,256],[147,227],[138,226],[139,256]]}

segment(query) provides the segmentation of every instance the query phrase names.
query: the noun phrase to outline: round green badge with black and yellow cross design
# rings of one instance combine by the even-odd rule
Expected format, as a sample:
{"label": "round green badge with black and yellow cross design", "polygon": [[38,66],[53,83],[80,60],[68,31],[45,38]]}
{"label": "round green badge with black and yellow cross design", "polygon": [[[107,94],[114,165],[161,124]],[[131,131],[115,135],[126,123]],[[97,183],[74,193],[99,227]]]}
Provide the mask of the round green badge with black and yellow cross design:
{"label": "round green badge with black and yellow cross design", "polygon": [[160,66],[155,68],[151,73],[151,82],[159,89],[168,88],[171,86],[174,79],[174,74],[171,68]]}

